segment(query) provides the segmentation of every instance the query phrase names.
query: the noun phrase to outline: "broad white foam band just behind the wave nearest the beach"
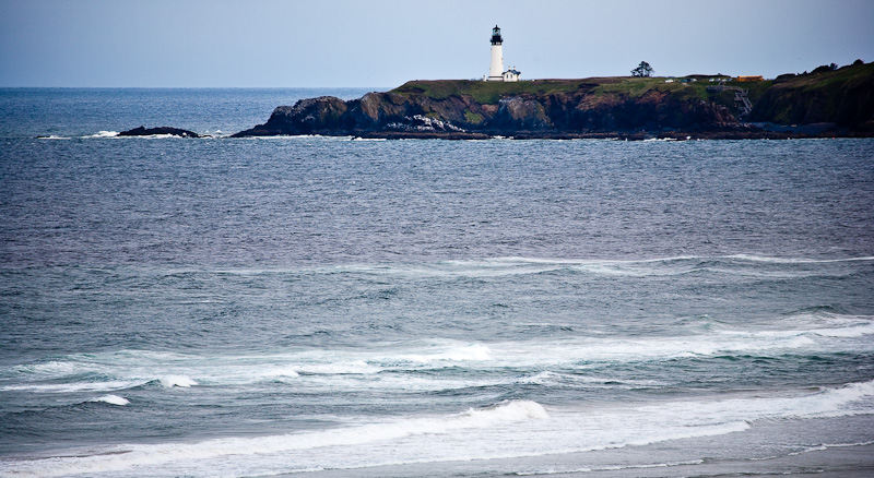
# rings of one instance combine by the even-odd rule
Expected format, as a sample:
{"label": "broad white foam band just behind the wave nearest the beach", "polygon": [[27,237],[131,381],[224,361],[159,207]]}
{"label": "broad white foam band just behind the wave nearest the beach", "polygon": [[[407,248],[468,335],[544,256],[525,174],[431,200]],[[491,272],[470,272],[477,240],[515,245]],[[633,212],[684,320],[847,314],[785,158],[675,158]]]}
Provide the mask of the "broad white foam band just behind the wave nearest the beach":
{"label": "broad white foam band just behind the wave nearest the beach", "polygon": [[[487,344],[433,338],[371,343],[352,348],[274,350],[247,356],[149,350],[79,354],[50,362],[2,368],[0,373],[14,380],[0,385],[0,390],[34,393],[113,392],[155,380],[167,387],[192,386],[198,382],[222,386],[275,380],[305,386],[323,385],[339,391],[378,386],[403,390],[405,380],[422,391],[456,390],[464,387],[465,383],[469,386],[508,383],[601,386],[611,382],[607,386],[635,387],[648,384],[627,380],[614,383],[610,377],[591,379],[586,377],[586,370],[599,363],[637,363],[718,355],[874,351],[874,343],[865,340],[874,335],[874,320],[871,316],[803,313],[777,324],[768,323],[766,327],[736,330],[720,325],[698,327],[695,328],[696,333],[676,336],[624,338],[591,333],[562,339]],[[447,367],[520,372],[511,377],[485,377],[477,372],[459,380],[418,373]],[[552,372],[560,374],[554,375]]]}

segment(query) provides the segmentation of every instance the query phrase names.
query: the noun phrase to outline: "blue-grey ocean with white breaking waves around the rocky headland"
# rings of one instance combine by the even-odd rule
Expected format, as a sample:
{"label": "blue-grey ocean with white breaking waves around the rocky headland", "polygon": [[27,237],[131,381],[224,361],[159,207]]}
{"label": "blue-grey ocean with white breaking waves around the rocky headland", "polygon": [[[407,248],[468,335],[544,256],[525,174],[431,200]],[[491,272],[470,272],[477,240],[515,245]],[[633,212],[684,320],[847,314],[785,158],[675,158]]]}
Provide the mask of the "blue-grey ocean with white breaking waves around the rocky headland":
{"label": "blue-grey ocean with white breaking waves around the rocky headland", "polygon": [[0,88],[0,475],[874,474],[874,140],[224,138],[371,89]]}

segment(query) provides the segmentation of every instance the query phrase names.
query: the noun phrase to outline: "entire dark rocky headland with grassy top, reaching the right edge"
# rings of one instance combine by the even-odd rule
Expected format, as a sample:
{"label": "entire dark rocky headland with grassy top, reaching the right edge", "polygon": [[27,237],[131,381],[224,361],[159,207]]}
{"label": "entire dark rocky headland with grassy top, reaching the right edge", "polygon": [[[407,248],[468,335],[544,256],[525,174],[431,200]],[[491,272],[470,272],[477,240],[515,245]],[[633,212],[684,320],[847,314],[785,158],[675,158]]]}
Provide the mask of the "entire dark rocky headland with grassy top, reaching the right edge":
{"label": "entire dark rocky headland with grassy top, reaching the right edge", "polygon": [[[751,115],[754,121],[836,122],[857,128],[870,121],[874,109],[872,67],[848,67],[852,75],[838,71],[826,73],[826,77],[805,76],[804,81],[734,86],[748,91],[756,105]],[[825,87],[822,80],[828,80],[829,86]],[[235,136],[552,138],[641,131],[748,131],[735,116],[740,113],[735,89],[708,85],[713,83],[707,79],[672,83],[630,77],[518,83],[415,81],[349,101],[323,96],[281,106],[267,123]]]}

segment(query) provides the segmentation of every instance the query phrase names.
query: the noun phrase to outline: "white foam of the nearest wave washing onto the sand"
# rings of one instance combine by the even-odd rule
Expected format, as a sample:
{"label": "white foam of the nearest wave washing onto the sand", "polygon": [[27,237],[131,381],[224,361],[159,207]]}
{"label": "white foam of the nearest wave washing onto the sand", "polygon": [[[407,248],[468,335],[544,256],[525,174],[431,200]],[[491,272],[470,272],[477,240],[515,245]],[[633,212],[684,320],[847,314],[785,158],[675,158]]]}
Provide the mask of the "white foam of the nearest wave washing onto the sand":
{"label": "white foam of the nearest wave washing onto the sand", "polygon": [[874,382],[815,393],[776,392],[767,396],[757,392],[714,399],[720,396],[658,404],[587,403],[576,408],[551,408],[548,413],[535,402],[513,401],[449,416],[388,419],[329,430],[116,446],[85,457],[8,462],[0,464],[0,471],[25,476],[246,476],[519,458],[741,433],[761,419],[874,410]]}

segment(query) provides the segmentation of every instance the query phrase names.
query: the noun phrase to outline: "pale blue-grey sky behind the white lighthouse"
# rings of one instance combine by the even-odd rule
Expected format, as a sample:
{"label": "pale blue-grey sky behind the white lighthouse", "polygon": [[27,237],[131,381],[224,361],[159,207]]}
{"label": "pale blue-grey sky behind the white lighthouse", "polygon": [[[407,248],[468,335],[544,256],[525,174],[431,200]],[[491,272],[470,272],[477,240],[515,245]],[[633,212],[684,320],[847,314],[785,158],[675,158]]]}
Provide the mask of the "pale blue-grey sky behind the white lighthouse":
{"label": "pale blue-grey sky behind the white lighthouse", "polygon": [[0,86],[394,87],[874,61],[874,0],[0,0]]}

